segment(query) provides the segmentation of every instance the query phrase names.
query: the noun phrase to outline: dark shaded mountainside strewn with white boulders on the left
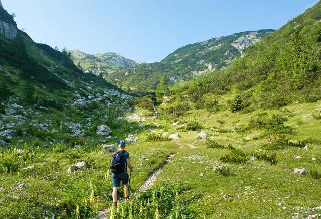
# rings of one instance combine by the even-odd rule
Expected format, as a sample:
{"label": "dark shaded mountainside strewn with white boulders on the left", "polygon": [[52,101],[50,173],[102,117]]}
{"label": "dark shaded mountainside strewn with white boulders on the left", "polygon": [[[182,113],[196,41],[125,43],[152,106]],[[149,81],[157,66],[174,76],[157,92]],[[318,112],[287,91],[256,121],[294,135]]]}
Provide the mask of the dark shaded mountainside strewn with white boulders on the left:
{"label": "dark shaded mountainside strewn with white boulders on the left", "polygon": [[1,147],[112,142],[111,133],[123,133],[120,117],[130,111],[133,99],[104,79],[83,73],[66,52],[35,43],[3,8],[0,90]]}

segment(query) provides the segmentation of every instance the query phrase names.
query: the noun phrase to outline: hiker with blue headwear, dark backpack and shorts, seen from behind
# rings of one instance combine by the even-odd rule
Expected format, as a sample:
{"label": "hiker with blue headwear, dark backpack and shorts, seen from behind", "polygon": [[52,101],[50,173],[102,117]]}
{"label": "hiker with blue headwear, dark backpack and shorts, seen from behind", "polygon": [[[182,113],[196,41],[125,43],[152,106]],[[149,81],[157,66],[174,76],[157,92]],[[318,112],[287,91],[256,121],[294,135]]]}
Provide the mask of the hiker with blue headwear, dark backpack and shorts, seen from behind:
{"label": "hiker with blue headwear, dark backpack and shorts, seen from behind", "polygon": [[113,206],[117,207],[117,192],[120,186],[120,181],[124,185],[125,201],[129,199],[129,176],[127,174],[127,167],[132,172],[132,166],[130,164],[129,153],[125,151],[126,141],[117,141],[118,150],[114,152],[110,160],[111,182],[113,186],[112,200]]}

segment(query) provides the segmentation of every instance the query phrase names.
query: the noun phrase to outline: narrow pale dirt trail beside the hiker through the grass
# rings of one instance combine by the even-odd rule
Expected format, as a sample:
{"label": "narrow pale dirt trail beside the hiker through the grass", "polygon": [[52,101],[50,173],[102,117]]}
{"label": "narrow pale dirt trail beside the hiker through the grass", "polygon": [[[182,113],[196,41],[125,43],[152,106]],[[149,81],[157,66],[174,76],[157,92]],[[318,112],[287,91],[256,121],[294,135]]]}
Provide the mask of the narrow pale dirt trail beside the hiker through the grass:
{"label": "narrow pale dirt trail beside the hiker through the grass", "polygon": [[[144,183],[138,188],[138,191],[146,191],[148,188],[150,188],[154,182],[156,181],[159,173],[161,173],[161,171],[163,170],[163,168],[165,167],[165,165],[171,160],[172,157],[175,156],[176,153],[172,153],[170,154],[167,159],[165,160],[165,162],[162,164],[161,167],[159,167],[158,169],[155,169],[148,177],[147,179],[144,181]],[[137,193],[135,193],[137,194]],[[133,196],[135,196],[135,194]],[[110,212],[110,208],[106,208],[103,209],[101,211],[99,211],[97,213],[97,215],[95,216],[95,218],[100,218],[100,219],[105,219],[105,218],[109,218],[109,212]]]}

